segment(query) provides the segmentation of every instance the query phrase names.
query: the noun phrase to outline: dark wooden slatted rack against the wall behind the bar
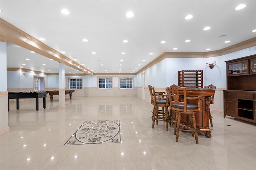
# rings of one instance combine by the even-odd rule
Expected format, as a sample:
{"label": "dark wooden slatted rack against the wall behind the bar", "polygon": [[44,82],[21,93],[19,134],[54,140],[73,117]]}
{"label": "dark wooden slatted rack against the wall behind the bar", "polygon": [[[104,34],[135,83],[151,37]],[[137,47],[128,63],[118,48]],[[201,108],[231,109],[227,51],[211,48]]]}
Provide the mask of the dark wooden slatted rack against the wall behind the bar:
{"label": "dark wooden slatted rack against the wall behind the bar", "polygon": [[203,70],[178,71],[178,85],[180,87],[204,88]]}

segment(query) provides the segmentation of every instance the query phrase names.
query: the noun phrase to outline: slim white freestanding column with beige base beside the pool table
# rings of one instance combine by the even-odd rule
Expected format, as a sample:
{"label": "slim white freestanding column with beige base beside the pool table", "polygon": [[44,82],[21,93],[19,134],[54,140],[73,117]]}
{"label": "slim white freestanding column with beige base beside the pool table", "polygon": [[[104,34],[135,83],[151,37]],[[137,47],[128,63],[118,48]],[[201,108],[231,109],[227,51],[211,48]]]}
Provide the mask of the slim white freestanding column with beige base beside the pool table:
{"label": "slim white freestanding column with beige base beside the pool table", "polygon": [[65,64],[59,63],[59,109],[65,109]]}

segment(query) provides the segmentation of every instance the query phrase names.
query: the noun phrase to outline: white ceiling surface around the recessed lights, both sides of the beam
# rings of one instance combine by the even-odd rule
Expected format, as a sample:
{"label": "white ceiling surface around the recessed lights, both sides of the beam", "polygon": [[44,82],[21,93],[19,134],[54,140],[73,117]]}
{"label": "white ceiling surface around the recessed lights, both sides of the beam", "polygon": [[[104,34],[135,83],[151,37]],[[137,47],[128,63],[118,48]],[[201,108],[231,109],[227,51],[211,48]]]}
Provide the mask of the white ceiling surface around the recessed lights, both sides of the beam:
{"label": "white ceiling surface around the recessed lights, both sides of the beam", "polygon": [[[239,4],[246,7],[234,10]],[[256,0],[1,0],[0,10],[2,19],[96,73],[137,72],[164,52],[215,51],[256,37]],[[7,67],[58,73],[58,62],[9,42]],[[81,73],[65,66],[68,72]]]}

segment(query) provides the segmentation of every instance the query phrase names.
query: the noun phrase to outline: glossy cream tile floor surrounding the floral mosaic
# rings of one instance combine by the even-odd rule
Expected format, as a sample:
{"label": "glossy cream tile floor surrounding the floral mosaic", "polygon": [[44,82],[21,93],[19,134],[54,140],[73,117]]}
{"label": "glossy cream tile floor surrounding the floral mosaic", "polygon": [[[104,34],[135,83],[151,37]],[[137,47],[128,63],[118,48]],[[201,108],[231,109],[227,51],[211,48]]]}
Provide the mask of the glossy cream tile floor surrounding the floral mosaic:
{"label": "glossy cream tile floor surrounding the floral mosaic", "polygon": [[[1,170],[255,170],[256,125],[212,113],[212,137],[180,133],[161,121],[152,129],[152,105],[136,97],[66,96],[10,104],[10,132],[0,136]],[[122,143],[64,146],[86,120],[120,120]],[[230,125],[230,126],[228,126]]]}

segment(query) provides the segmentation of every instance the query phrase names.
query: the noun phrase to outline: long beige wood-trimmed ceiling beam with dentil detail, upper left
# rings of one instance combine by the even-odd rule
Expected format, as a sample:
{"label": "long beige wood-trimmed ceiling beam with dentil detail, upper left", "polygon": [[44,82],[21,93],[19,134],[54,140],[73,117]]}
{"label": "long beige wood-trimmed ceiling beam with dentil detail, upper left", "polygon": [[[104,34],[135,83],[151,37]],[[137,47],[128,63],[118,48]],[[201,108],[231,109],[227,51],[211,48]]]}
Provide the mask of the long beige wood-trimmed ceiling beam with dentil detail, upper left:
{"label": "long beige wood-trimmed ceiling beam with dentil detail, upper left", "polygon": [[53,59],[54,61],[73,67],[76,70],[80,70],[85,74],[93,74],[93,72],[88,68],[85,68],[84,66],[76,63],[72,59],[42,43],[38,39],[25,33],[24,31],[18,29],[17,27],[12,25],[11,23],[8,23],[2,18],[0,18],[0,40],[2,42],[10,41],[16,45],[19,45],[20,47],[24,47],[28,50],[43,55],[44,57],[48,57],[49,59]]}

